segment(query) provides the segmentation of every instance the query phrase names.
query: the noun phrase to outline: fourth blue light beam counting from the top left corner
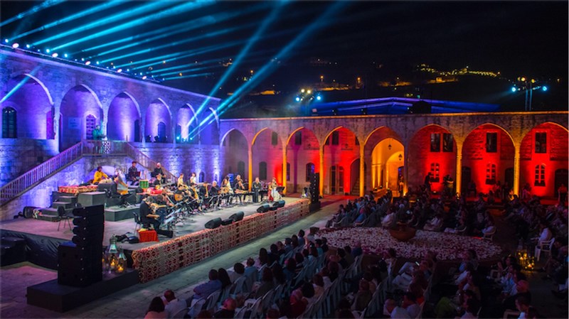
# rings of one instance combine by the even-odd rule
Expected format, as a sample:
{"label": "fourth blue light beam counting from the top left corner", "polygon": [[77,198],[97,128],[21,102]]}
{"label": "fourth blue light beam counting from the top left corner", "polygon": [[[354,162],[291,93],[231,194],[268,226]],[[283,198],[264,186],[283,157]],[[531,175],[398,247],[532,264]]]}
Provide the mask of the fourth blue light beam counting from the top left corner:
{"label": "fourth blue light beam counting from the top left corner", "polygon": [[186,2],[186,3],[180,4],[179,6],[174,6],[172,8],[166,9],[164,11],[159,11],[158,13],[154,13],[151,16],[144,16],[142,18],[137,18],[137,19],[134,19],[133,21],[129,21],[127,23],[122,23],[119,26],[115,26],[113,28],[108,28],[104,31],[97,32],[95,34],[91,34],[90,36],[85,36],[83,38],[79,38],[77,40],[73,40],[73,41],[70,41],[68,43],[58,45],[55,48],[53,48],[53,50],[59,50],[62,48],[67,48],[70,45],[75,45],[75,44],[83,43],[85,41],[92,40],[95,38],[100,38],[102,36],[107,36],[109,34],[119,32],[119,31],[123,31],[123,30],[127,30],[129,28],[132,28],[134,26],[139,26],[139,25],[144,24],[144,23],[149,23],[151,21],[156,21],[159,19],[168,18],[169,16],[176,16],[176,15],[179,15],[181,13],[185,13],[187,11],[191,11],[194,9],[199,9],[199,8],[202,8],[203,6],[208,6],[208,5],[211,5],[214,3],[215,2],[211,1],[211,0],[203,0],[203,1],[198,1],[198,2]]}

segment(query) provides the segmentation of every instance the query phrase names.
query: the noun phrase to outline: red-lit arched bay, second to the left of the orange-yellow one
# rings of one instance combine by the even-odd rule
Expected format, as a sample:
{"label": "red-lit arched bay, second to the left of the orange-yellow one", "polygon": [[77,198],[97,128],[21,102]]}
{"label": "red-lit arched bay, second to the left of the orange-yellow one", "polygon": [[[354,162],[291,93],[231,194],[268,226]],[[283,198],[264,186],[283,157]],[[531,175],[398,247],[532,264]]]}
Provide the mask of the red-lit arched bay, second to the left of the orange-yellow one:
{"label": "red-lit arched bay, second to the left of the orange-yellow one", "polygon": [[309,187],[313,173],[320,171],[320,144],[314,132],[301,127],[289,135],[287,143],[287,190],[288,193],[301,193]]}

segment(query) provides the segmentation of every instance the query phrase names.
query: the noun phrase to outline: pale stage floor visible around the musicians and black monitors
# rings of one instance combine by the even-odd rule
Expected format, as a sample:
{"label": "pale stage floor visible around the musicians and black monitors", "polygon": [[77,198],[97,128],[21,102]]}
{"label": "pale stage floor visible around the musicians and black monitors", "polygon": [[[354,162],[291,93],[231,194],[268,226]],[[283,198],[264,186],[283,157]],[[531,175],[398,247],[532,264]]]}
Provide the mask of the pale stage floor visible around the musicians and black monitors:
{"label": "pale stage floor visible around the musicians and black monitors", "polygon": [[[283,197],[282,200],[285,200],[285,207],[292,202],[296,202],[300,200],[299,194],[292,194],[286,197]],[[234,205],[231,207],[222,207],[221,210],[213,210],[211,212],[204,212],[198,215],[191,215],[186,217],[183,221],[183,225],[176,225],[174,228],[174,238],[183,236],[185,234],[191,234],[193,232],[198,232],[202,229],[205,229],[206,222],[209,220],[213,220],[214,218],[220,217],[222,220],[227,219],[231,215],[235,214],[235,212],[243,211],[243,217],[256,214],[257,208],[260,206],[260,203],[244,203],[244,205]],[[70,220],[73,227],[73,220]],[[103,239],[103,245],[107,245],[109,243],[109,239],[114,235],[121,235],[130,232],[134,234],[134,227],[136,224],[134,223],[134,218],[130,218],[128,220],[120,220],[117,222],[110,222],[105,221],[105,237]],[[73,237],[73,232],[69,229],[69,226],[63,221],[61,221],[61,226],[58,231],[58,222],[48,222],[45,220],[34,220],[34,219],[26,219],[26,218],[18,218],[16,220],[8,220],[4,221],[0,225],[0,229],[6,229],[13,232],[23,232],[28,234],[36,234],[39,236],[44,237],[52,237],[57,239],[65,239],[71,240]],[[169,238],[159,235],[158,239],[160,242],[166,242]],[[129,244],[128,242],[122,243],[122,247],[126,250],[134,251],[137,249],[142,249],[144,247],[149,247],[157,242],[142,242],[138,244]]]}

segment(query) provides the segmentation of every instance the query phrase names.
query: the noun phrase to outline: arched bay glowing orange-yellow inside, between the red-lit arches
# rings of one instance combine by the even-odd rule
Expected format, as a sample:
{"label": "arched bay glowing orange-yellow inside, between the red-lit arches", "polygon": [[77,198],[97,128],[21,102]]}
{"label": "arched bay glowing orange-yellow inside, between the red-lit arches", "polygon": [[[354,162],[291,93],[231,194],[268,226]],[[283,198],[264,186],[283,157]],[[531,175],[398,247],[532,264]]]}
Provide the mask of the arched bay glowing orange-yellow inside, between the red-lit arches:
{"label": "arched bay glowing orange-yellow inside, between the red-lit arches", "polygon": [[[374,192],[386,189],[398,189],[398,180],[403,176],[405,163],[405,147],[401,144],[400,136],[393,129],[380,127],[371,132],[363,150],[366,166],[371,166],[371,172],[366,173],[366,189]],[[366,170],[367,171],[367,170]]]}

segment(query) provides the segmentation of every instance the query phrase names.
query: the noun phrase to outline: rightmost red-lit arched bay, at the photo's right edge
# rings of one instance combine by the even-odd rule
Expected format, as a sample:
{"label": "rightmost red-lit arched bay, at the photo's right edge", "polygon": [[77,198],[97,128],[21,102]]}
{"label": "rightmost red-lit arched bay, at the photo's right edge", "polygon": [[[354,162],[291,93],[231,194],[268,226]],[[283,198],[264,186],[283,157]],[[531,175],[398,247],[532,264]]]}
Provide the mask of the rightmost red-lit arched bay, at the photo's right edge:
{"label": "rightmost red-lit arched bay, at the photo's right edge", "polygon": [[522,188],[529,187],[532,195],[541,198],[557,196],[560,184],[567,185],[568,143],[568,130],[555,123],[535,126],[523,136],[520,146],[520,192]]}

